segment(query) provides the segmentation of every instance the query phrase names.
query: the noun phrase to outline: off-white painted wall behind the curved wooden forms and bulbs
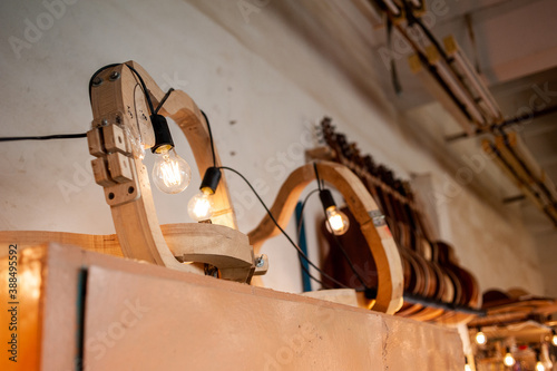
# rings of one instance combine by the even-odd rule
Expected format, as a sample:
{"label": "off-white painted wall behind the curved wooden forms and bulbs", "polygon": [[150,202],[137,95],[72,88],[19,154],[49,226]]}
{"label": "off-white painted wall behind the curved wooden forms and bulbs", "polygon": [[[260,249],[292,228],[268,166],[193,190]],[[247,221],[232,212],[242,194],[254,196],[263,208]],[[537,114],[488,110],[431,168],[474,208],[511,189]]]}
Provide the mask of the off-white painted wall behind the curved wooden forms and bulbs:
{"label": "off-white painted wall behind the curved wooden forms and bulbs", "polygon": [[[133,59],[163,88],[183,89],[196,100],[211,118],[223,163],[252,180],[261,179],[268,204],[287,173],[303,164],[299,144],[312,147],[307,131],[324,115],[333,117],[364,153],[401,176],[442,174],[428,149],[401,131],[381,89],[375,86],[371,98],[356,89],[276,16],[277,1],[251,1],[258,8],[247,17],[238,2],[225,0],[47,3],[59,6],[59,17],[48,16],[38,1],[0,4],[1,136],[87,130],[90,75],[104,65]],[[43,30],[27,31],[26,39],[29,25],[37,22],[43,22],[39,25]],[[10,45],[14,38],[27,42],[22,49],[14,51]],[[368,78],[373,86],[374,76]],[[194,165],[185,139],[173,131],[179,154]],[[3,143],[0,158],[0,230],[114,232],[101,188],[90,176],[85,139]],[[247,233],[263,217],[263,208],[240,178],[229,175],[228,180],[240,228]],[[180,195],[155,193],[160,223],[188,221],[186,204],[198,182],[196,176]],[[458,243],[458,255],[481,280],[482,289],[519,285],[544,292],[531,237],[518,222],[491,212],[467,191],[452,205],[447,211],[451,227],[443,237]],[[309,228],[317,211],[310,208]],[[499,227],[481,227],[490,224]],[[293,232],[292,225],[289,231]],[[509,248],[508,241],[520,245]],[[309,242],[317,261],[315,237]],[[526,266],[521,246],[530,256]],[[297,260],[286,241],[276,237],[264,252],[271,261],[265,283],[300,291]]]}

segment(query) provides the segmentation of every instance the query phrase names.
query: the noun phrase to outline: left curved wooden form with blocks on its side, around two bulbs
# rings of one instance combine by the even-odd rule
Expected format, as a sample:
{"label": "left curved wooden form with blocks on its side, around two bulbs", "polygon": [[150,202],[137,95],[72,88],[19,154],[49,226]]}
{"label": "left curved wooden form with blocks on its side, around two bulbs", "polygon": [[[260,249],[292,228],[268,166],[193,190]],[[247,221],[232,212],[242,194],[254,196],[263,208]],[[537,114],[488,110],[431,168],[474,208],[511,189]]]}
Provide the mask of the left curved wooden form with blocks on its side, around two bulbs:
{"label": "left curved wooden form with blocks on its side, around two bulbs", "polygon": [[[140,81],[126,65],[141,76],[147,91],[143,91]],[[240,282],[250,282],[253,274],[264,274],[266,257],[255,257],[246,236],[237,231],[224,174],[213,196],[212,224],[173,225],[166,228],[172,235],[163,234],[141,162],[144,150],[154,145],[149,118],[153,113],[144,94],[150,96],[155,107],[165,96],[149,74],[134,61],[101,71],[91,87],[94,120],[87,134],[89,152],[97,157],[92,160],[95,179],[105,189],[124,255],[196,273],[204,273],[204,267],[184,262],[204,263],[205,269],[217,267],[222,277]],[[159,114],[179,126],[203,177],[214,164],[207,123],[199,108],[187,94],[175,90]],[[221,166],[216,148],[215,157],[215,165]]]}

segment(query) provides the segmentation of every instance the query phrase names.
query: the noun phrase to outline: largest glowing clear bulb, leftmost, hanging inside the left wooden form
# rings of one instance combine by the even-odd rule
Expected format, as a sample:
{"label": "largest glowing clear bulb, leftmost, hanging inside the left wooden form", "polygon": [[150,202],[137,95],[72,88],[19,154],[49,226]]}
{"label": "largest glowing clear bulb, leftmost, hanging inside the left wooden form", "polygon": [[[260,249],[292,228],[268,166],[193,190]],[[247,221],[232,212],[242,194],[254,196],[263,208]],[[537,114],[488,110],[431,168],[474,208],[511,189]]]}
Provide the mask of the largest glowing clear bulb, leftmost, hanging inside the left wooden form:
{"label": "largest glowing clear bulb, leftmost, hanging inside the left wooden form", "polygon": [[186,189],[192,179],[192,169],[186,160],[168,146],[162,147],[157,153],[153,166],[153,182],[158,189],[175,194]]}

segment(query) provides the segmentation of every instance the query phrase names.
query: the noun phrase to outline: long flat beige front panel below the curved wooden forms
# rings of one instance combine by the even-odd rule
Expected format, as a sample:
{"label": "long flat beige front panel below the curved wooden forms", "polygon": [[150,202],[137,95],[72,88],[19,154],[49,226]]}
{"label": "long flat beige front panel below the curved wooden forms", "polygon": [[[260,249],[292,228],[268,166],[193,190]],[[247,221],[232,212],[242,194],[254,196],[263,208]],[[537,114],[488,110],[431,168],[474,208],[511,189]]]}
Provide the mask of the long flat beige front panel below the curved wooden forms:
{"label": "long flat beige front panel below the curved wooden forms", "polygon": [[456,331],[244,284],[91,266],[91,370],[462,370]]}

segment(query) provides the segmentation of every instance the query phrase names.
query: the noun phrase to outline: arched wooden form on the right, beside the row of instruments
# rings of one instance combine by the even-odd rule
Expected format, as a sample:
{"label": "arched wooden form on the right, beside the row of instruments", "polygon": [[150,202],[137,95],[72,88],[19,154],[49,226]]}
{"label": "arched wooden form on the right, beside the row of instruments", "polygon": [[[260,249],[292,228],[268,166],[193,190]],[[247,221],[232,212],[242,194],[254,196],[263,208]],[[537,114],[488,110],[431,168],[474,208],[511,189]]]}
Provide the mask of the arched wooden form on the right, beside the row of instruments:
{"label": "arched wooden form on the right, beside the row of instruments", "polygon": [[[320,178],[334,186],[344,196],[375,260],[379,287],[375,300],[368,301],[368,306],[393,314],[402,305],[402,264],[383,215],[365,186],[348,167],[330,162],[319,162],[316,166]],[[295,169],[284,182],[271,207],[271,213],[278,225],[287,225],[302,191],[313,180],[315,180],[313,164],[307,164]],[[254,252],[258,253],[263,243],[278,233],[278,228],[266,215],[258,226],[248,233]]]}

